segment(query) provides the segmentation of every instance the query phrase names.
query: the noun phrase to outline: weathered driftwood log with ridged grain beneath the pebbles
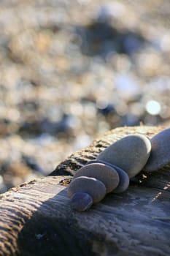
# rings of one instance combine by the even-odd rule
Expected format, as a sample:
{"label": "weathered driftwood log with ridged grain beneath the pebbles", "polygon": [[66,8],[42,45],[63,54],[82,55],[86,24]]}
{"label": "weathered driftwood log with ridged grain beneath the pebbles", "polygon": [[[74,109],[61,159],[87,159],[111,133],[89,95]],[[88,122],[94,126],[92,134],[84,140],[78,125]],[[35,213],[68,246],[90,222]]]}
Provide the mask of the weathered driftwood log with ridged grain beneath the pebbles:
{"label": "weathered driftwood log with ridged grain beneath the pebbles", "polygon": [[149,138],[165,127],[113,129],[62,162],[51,176],[10,189],[0,200],[0,255],[170,254],[170,167],[140,173],[126,192],[107,195],[89,211],[70,208],[74,172],[117,139]]}

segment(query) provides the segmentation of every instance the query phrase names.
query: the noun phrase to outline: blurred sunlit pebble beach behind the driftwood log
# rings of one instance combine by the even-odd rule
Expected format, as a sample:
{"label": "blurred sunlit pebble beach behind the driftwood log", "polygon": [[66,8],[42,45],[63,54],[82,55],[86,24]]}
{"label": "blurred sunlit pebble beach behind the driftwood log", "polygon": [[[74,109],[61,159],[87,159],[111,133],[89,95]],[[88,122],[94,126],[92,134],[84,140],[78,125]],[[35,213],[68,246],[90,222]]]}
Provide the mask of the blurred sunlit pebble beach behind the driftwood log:
{"label": "blurred sunlit pebble beach behind the driftwood log", "polygon": [[0,1],[0,192],[109,129],[170,121],[170,1]]}

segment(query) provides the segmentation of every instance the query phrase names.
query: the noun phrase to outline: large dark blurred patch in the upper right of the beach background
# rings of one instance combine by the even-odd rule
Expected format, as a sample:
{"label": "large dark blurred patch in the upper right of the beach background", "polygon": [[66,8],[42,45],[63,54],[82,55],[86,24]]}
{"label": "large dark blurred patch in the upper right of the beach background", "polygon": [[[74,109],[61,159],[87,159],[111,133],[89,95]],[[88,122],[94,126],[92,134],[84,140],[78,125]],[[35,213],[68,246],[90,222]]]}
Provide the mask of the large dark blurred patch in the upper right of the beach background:
{"label": "large dark blurred patch in the upper right of the beach background", "polygon": [[81,51],[86,56],[105,59],[114,52],[131,56],[147,43],[147,39],[139,32],[118,30],[109,21],[94,21],[87,26],[77,26],[74,30],[82,39]]}

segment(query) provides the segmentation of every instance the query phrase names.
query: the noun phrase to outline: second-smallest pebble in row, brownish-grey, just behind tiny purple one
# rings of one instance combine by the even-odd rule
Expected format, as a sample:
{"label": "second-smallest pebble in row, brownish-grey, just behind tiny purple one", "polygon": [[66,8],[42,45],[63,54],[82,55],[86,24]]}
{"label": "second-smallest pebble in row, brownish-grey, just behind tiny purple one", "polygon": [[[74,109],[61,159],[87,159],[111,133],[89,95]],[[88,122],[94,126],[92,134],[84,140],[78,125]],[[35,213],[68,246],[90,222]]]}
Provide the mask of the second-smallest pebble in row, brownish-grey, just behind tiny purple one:
{"label": "second-smallest pebble in row, brownish-grey, just behind tiny purple one", "polygon": [[107,189],[103,182],[98,181],[98,179],[81,176],[71,181],[67,195],[72,198],[77,192],[89,194],[93,198],[93,203],[98,203],[106,195]]}

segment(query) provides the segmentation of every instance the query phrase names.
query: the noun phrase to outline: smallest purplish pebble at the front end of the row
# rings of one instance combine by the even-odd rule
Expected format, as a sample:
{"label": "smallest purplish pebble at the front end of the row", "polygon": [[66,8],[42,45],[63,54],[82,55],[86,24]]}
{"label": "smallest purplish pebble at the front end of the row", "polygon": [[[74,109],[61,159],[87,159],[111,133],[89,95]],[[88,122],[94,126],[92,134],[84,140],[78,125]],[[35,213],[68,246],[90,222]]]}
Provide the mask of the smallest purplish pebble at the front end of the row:
{"label": "smallest purplish pebble at the front end of the row", "polygon": [[83,192],[76,192],[71,198],[71,206],[77,211],[86,211],[92,206],[93,199],[90,195]]}

